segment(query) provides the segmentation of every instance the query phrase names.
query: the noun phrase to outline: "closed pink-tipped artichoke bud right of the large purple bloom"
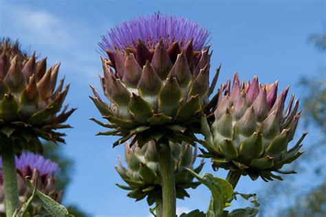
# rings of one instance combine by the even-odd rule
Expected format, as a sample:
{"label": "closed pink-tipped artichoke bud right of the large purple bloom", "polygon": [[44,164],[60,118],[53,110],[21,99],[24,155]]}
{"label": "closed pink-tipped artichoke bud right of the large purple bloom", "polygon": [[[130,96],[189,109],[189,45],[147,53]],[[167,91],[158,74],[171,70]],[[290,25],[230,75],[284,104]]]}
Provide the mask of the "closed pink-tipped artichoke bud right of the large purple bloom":
{"label": "closed pink-tipped artichoke bud right of the large purple bloom", "polygon": [[202,157],[211,158],[213,168],[241,170],[253,180],[261,176],[264,181],[281,179],[272,172],[290,173],[280,169],[303,154],[299,149],[306,133],[288,148],[300,117],[298,100],[294,102],[292,95],[283,112],[289,87],[278,96],[277,87],[278,82],[262,85],[257,77],[240,84],[237,73],[232,87],[230,81],[221,87],[224,93],[220,89],[214,115],[210,115],[215,120],[202,119],[206,138],[202,144],[208,150]]}

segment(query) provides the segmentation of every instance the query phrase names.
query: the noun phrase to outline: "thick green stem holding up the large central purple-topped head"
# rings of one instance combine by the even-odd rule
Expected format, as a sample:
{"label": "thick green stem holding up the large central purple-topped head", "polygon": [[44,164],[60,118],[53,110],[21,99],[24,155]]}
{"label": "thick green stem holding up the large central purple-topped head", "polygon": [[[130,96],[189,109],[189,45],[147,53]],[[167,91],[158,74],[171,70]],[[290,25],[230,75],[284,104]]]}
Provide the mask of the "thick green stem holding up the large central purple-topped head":
{"label": "thick green stem holding up the large central purple-topped head", "polygon": [[175,176],[169,143],[156,144],[158,165],[162,177],[162,217],[176,216]]}

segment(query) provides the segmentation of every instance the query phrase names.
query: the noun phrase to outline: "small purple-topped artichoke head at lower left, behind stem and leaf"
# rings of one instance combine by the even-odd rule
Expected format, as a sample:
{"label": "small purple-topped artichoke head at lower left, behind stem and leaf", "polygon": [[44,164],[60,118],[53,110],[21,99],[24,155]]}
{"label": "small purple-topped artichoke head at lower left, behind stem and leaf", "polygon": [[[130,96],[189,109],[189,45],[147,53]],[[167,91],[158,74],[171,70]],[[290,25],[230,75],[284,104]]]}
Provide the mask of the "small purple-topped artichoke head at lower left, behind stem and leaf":
{"label": "small purple-topped artichoke head at lower left, behind stem and leaf", "polygon": [[[56,190],[56,173],[58,172],[58,164],[45,159],[42,155],[36,155],[32,152],[23,152],[19,157],[15,157],[15,163],[17,166],[17,181],[19,191],[19,204],[27,201],[32,192],[25,183],[25,177],[29,177],[33,185],[53,198],[55,201],[60,202],[62,198],[62,192]],[[1,158],[0,158],[0,215],[5,214],[5,201],[3,190],[3,173]],[[41,205],[39,203],[33,203],[30,208],[31,214],[43,214],[41,212]]]}

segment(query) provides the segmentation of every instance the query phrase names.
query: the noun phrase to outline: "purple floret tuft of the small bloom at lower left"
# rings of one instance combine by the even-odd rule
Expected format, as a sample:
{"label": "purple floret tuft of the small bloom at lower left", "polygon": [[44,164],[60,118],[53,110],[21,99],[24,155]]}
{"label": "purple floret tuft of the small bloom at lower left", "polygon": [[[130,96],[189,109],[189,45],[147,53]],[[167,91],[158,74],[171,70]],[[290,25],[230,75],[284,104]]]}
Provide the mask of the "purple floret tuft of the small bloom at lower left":
{"label": "purple floret tuft of the small bloom at lower left", "polygon": [[[40,176],[50,178],[52,174],[58,172],[58,164],[45,159],[42,155],[32,152],[24,152],[20,157],[15,157],[16,168],[23,176],[32,176],[32,170],[37,169]],[[2,184],[2,159],[0,157],[0,185]]]}

